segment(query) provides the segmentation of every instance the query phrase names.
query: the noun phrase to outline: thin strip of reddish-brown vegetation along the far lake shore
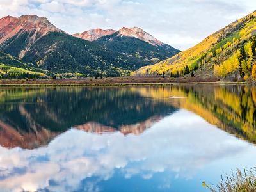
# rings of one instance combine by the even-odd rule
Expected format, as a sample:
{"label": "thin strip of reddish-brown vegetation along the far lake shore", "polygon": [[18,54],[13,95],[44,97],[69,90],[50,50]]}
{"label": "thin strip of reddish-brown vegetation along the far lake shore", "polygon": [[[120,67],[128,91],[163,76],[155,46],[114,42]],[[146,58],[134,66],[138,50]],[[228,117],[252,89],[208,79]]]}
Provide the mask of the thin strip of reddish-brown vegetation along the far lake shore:
{"label": "thin strip of reddish-brown vegetation along the far lake shore", "polygon": [[174,79],[172,77],[102,77],[102,79],[1,79],[0,86],[128,86],[128,85],[169,85],[169,84],[247,84],[247,82],[219,81],[198,77]]}

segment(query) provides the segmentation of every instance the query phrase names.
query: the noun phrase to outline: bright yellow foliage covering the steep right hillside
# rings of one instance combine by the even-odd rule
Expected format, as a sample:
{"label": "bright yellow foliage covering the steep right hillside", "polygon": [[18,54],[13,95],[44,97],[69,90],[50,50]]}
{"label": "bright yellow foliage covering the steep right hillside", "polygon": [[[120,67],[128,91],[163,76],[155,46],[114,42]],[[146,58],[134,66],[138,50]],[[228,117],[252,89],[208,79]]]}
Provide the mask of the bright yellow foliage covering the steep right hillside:
{"label": "bright yellow foliage covering the steep right hillside", "polygon": [[[243,29],[240,29],[241,26],[243,26]],[[230,36],[232,40],[228,40],[227,42],[225,42],[225,45],[223,45],[223,47],[220,47],[219,43],[221,42],[221,40],[224,40],[228,37],[227,34],[230,34],[230,31],[237,31],[236,35],[235,33],[232,33],[234,35]],[[210,63],[212,61],[219,61],[216,59],[212,60],[213,54],[211,54],[211,52],[216,47],[219,47],[218,49],[215,49],[216,58],[223,55],[220,54],[221,52],[223,52],[223,49],[230,49],[230,51],[233,52],[233,50],[231,50],[232,44],[238,45],[243,40],[249,40],[253,31],[256,31],[255,12],[251,13],[246,17],[243,17],[242,19],[237,20],[236,22],[233,22],[232,24],[221,29],[220,31],[212,34],[211,36],[208,36],[207,38],[205,38],[205,40],[195,45],[194,47],[191,47],[186,51],[182,51],[179,54],[173,56],[172,58],[169,58],[168,60],[161,61],[155,65],[140,68],[138,71],[136,71],[136,74],[146,74],[147,72],[149,74],[153,74],[156,72],[161,73],[163,72],[163,70],[175,74],[177,72],[181,72],[184,67],[186,67],[186,65],[191,68],[193,67],[193,65],[195,65],[195,63],[204,65],[205,63],[209,63],[209,61]],[[247,49],[246,53],[251,55],[250,49]],[[237,70],[237,62],[235,62],[234,65],[230,65],[230,60],[227,61],[226,64],[224,63],[225,67],[216,67],[216,65],[214,67],[216,68],[215,74],[218,74],[218,76],[226,76],[229,72]]]}

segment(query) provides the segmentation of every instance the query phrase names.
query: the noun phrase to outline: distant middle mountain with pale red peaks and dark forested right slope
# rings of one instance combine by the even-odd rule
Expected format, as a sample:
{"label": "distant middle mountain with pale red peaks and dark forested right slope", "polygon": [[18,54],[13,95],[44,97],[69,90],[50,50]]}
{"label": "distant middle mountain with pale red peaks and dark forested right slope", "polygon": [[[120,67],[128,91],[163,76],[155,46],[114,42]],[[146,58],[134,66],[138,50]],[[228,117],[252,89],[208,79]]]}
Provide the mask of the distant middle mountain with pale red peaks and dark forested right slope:
{"label": "distant middle mountain with pale red peaks and dark forested right slope", "polygon": [[180,52],[138,27],[130,29],[124,27],[118,31],[92,29],[72,36],[93,41],[105,49],[119,52],[123,55],[136,57],[140,60],[140,63],[147,63],[147,65],[165,60]]}

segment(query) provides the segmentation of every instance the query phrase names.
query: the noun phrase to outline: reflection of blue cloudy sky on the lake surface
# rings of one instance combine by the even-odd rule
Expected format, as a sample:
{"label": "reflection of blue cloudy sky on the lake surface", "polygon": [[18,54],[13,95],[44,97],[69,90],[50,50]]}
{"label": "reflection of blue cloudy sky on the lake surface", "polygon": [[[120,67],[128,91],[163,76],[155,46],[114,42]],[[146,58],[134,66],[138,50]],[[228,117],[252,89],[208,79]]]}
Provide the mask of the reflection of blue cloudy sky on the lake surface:
{"label": "reflection of blue cloudy sky on the lake surface", "polygon": [[149,191],[202,191],[202,180],[217,182],[231,168],[255,166],[255,157],[253,145],[181,109],[140,136],[70,129],[47,147],[1,147],[0,188],[143,191],[151,184]]}

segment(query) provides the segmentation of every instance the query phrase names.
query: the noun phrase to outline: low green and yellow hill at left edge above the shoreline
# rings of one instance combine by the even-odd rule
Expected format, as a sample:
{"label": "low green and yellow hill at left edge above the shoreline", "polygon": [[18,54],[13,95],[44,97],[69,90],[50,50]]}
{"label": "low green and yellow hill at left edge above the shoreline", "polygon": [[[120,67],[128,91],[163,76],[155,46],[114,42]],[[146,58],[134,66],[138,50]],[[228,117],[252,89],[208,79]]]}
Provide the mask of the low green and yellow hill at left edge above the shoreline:
{"label": "low green and yellow hill at left edge above the shoreline", "polygon": [[34,67],[31,63],[24,63],[19,58],[0,51],[0,79],[1,78],[44,78],[49,72]]}

